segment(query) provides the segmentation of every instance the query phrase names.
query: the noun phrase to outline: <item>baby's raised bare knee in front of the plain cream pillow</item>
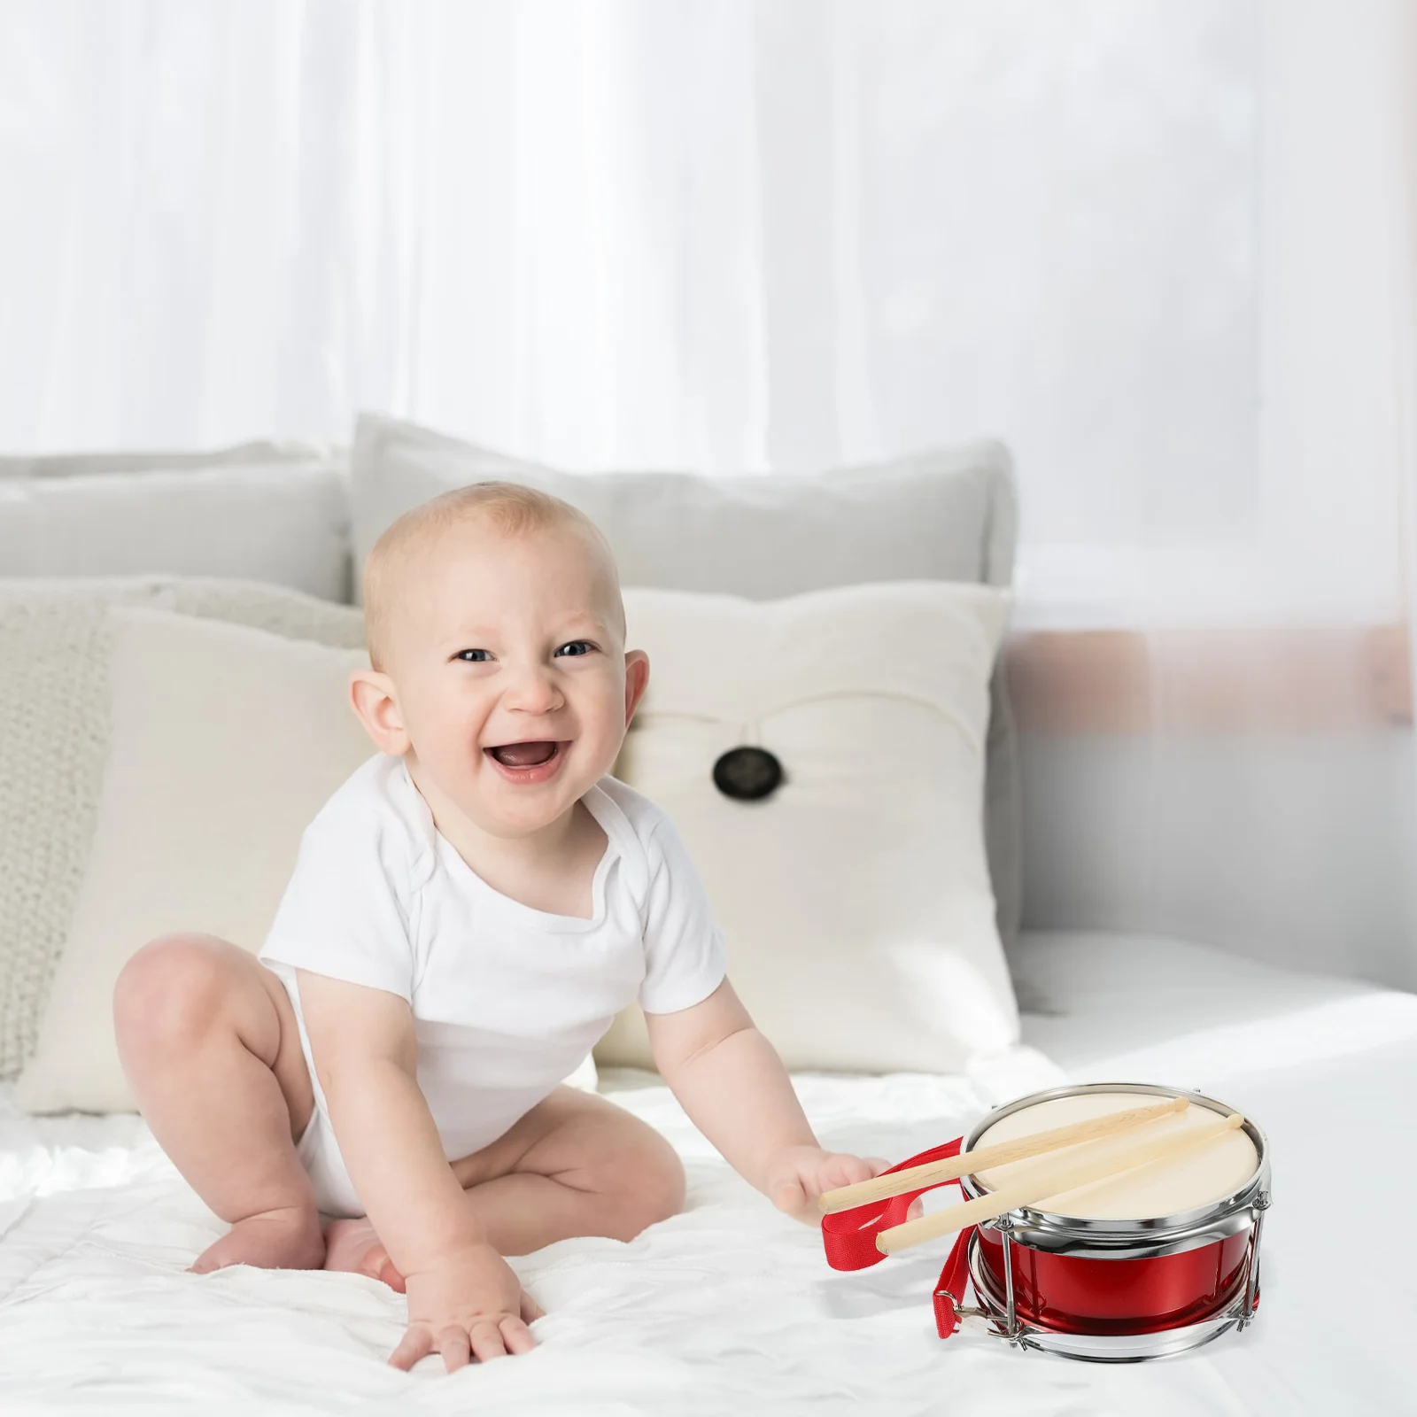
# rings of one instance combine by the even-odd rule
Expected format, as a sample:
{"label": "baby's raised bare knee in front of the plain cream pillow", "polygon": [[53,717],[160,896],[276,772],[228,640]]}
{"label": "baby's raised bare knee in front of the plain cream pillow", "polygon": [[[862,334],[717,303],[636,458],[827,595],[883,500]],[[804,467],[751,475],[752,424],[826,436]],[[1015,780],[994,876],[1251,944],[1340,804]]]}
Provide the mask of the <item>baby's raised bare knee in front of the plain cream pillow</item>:
{"label": "baby's raised bare knee in front of the plain cream pillow", "polygon": [[119,1046],[166,1051],[205,1034],[227,986],[225,948],[211,935],[162,935],[143,945],[113,985]]}

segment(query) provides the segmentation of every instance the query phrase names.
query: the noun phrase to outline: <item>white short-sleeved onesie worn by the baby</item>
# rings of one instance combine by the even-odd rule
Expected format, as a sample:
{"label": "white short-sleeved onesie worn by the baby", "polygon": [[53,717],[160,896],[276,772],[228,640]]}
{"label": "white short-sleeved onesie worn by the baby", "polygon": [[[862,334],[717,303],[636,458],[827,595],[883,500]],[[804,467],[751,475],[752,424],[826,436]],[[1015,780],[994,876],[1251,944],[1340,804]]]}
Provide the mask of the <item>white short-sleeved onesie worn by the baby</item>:
{"label": "white short-sleeved onesie worn by the baby", "polygon": [[402,758],[370,758],[306,828],[259,958],[300,1026],[315,1111],[298,1151],[326,1214],[364,1210],[310,1063],[296,966],[410,1002],[418,1085],[449,1161],[547,1097],[632,999],[672,1013],[723,982],[723,935],[669,818],[615,778],[582,801],[606,836],[588,920],[487,886],[436,830]]}

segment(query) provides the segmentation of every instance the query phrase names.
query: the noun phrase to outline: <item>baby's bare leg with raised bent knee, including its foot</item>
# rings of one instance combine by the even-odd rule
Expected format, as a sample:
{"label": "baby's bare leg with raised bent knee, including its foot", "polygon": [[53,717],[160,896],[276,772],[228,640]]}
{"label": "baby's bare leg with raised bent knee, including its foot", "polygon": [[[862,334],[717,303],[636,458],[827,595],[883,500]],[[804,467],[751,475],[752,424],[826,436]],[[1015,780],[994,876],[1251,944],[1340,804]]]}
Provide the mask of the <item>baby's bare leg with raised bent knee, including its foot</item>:
{"label": "baby's bare leg with raised bent knee, including its foot", "polygon": [[315,1098],[281,981],[224,939],[164,935],[125,965],[113,1024],[159,1145],[232,1226],[193,1270],[319,1268],[320,1217],[295,1153]]}

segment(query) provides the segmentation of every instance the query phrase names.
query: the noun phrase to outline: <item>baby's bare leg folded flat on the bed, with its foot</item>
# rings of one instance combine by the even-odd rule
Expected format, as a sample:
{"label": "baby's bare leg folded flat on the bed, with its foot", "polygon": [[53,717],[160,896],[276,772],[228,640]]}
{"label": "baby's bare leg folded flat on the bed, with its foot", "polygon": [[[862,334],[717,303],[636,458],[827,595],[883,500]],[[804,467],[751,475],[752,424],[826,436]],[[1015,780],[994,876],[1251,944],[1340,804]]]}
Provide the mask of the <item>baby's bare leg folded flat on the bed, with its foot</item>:
{"label": "baby's bare leg folded flat on the bed, with its foot", "polygon": [[[609,1100],[570,1087],[452,1169],[499,1254],[530,1254],[571,1236],[633,1240],[684,1203],[684,1168],[673,1146]],[[332,1221],[326,1240],[327,1270],[401,1288],[367,1220]]]}

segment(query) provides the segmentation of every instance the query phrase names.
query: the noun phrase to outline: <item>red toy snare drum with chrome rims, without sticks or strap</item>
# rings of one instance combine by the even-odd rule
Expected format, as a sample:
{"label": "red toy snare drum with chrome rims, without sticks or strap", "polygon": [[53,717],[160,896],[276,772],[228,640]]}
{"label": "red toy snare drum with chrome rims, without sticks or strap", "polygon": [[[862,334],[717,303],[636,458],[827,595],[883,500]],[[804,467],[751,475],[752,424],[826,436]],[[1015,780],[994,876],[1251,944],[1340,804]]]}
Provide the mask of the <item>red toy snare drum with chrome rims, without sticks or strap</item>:
{"label": "red toy snare drum with chrome rims, without sticks or strap", "polygon": [[[990,1112],[964,1149],[1125,1111],[1138,1094],[1195,1104],[1168,1127],[1233,1111],[1197,1093],[1141,1083],[1060,1087]],[[961,1189],[975,1199],[1029,1165],[964,1176]],[[1268,1204],[1268,1146],[1247,1119],[1180,1159],[1054,1196],[1050,1210],[1022,1209],[981,1226],[968,1240],[969,1277],[982,1314],[1022,1346],[1094,1362],[1161,1357],[1253,1316]]]}

